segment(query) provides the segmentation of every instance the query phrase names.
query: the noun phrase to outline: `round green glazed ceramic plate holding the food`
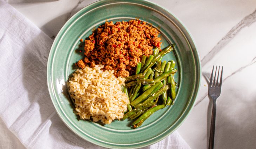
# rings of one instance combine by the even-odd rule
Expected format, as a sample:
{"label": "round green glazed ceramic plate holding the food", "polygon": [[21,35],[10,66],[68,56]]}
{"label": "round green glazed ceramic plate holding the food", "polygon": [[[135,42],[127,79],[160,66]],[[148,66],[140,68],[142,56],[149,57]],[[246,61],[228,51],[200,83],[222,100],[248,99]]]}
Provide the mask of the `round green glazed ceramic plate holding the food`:
{"label": "round green glazed ceramic plate holding the food", "polygon": [[[105,21],[127,21],[135,18],[159,29],[162,48],[176,44],[175,52],[164,56],[164,60],[175,60],[177,63],[175,80],[179,88],[174,106],[157,111],[137,129],[130,127],[130,120],[116,120],[105,126],[78,120],[67,96],[66,82],[76,69],[74,63],[82,58],[77,50],[79,39],[88,37],[92,30]],[[200,61],[193,40],[181,22],[167,10],[142,0],[103,0],[83,8],[62,27],[49,53],[47,83],[57,113],[74,133],[102,147],[140,148],[164,139],[186,119],[199,90],[200,71]]]}

